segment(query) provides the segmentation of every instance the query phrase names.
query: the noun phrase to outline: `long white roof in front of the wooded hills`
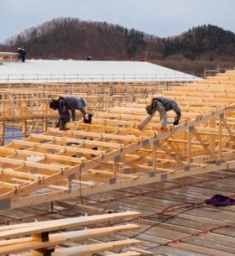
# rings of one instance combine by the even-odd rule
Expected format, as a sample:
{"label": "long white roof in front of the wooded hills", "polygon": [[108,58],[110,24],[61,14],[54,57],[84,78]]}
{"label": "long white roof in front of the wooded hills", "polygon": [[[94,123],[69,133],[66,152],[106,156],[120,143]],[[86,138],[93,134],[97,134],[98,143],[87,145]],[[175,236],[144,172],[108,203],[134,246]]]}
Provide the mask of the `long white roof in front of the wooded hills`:
{"label": "long white roof in front of the wooded hills", "polygon": [[200,78],[145,61],[25,60],[0,65],[1,83],[195,80]]}

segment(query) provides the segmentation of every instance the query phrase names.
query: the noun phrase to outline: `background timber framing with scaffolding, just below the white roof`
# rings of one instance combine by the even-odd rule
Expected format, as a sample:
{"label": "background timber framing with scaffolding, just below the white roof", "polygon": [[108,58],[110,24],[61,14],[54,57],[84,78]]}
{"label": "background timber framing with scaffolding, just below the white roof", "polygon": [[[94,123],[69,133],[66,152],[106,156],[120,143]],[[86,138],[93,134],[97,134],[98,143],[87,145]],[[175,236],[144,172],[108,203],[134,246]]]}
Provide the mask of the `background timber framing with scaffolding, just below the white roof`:
{"label": "background timber framing with scaffolding, just below the white roof", "polygon": [[[123,102],[134,102],[169,90],[173,85],[179,85],[179,82],[0,84],[0,144],[8,143],[10,138],[24,138],[29,133],[53,127],[58,113],[49,107],[51,98],[61,95],[86,97],[87,111],[106,111],[109,107],[121,106]],[[80,112],[76,114],[81,118]],[[18,128],[18,132],[7,133],[9,127]]]}

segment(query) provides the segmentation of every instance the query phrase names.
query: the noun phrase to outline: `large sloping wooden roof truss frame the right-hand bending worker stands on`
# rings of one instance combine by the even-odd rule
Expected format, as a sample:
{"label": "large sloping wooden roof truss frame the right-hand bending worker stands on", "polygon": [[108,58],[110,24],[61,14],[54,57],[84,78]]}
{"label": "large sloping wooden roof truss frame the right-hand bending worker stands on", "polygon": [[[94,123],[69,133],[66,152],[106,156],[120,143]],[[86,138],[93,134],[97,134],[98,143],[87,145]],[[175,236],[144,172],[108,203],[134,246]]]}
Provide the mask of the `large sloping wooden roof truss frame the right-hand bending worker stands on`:
{"label": "large sloping wooden roof truss frame the right-hand bending worker stands on", "polygon": [[181,124],[166,133],[157,131],[158,115],[137,129],[149,97],[95,112],[91,125],[49,128],[0,148],[0,209],[234,169],[234,71],[162,96],[182,111]]}

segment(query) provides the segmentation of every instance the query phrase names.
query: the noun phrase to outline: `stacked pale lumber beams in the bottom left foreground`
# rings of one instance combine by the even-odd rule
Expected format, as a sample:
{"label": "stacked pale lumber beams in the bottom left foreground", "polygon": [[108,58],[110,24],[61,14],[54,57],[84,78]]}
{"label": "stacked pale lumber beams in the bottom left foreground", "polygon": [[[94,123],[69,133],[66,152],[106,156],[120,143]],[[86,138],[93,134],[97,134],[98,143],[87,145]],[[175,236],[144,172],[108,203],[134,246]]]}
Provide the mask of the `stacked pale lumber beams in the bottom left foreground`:
{"label": "stacked pale lumber beams in the bottom left foreground", "polygon": [[[123,222],[139,215],[139,212],[120,212],[2,226],[0,255],[85,256],[109,252],[107,255],[138,256],[140,253],[128,250],[128,247],[140,243],[137,239],[97,243],[97,238],[138,230],[139,226],[135,224],[111,226],[110,223]],[[113,252],[115,249],[116,253]]]}

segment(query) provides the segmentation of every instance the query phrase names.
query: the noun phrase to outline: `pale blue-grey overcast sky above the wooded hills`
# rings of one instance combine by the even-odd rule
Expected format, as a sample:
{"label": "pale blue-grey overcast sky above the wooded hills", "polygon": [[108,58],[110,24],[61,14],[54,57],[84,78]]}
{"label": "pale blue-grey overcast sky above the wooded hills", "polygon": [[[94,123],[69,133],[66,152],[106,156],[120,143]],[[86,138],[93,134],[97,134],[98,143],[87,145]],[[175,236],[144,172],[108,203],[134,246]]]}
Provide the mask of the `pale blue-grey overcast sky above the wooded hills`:
{"label": "pale blue-grey overcast sky above the wooded hills", "polygon": [[106,21],[167,37],[202,24],[235,32],[235,0],[0,0],[0,42],[52,18]]}

